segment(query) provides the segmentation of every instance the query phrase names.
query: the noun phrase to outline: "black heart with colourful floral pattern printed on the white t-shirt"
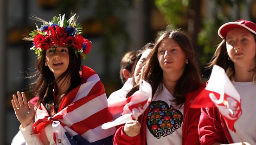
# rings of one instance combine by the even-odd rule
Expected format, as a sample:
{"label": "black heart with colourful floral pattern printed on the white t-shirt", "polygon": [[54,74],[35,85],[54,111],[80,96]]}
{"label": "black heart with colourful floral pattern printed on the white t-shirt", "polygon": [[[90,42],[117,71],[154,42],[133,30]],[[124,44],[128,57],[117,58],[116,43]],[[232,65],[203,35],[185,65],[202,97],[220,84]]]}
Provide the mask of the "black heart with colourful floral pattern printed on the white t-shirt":
{"label": "black heart with colourful floral pattern printed on the white t-shirt", "polygon": [[157,139],[174,133],[182,126],[183,115],[164,101],[153,101],[150,104],[146,126]]}

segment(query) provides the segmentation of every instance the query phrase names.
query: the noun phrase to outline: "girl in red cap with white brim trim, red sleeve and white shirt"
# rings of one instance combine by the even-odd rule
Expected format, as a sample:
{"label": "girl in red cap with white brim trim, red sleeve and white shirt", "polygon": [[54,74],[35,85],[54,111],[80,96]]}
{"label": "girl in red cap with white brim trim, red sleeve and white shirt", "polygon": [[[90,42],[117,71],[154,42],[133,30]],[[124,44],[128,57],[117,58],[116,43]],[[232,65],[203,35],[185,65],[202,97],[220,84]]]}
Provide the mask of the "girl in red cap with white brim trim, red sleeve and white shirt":
{"label": "girl in red cap with white brim trim, red sleeve and white shirt", "polygon": [[[235,135],[227,128],[217,108],[202,108],[199,122],[201,144],[256,144],[256,24],[245,19],[223,24],[218,31],[222,42],[209,68],[225,69],[241,97],[242,114],[235,122]],[[241,140],[240,140],[240,139]]]}

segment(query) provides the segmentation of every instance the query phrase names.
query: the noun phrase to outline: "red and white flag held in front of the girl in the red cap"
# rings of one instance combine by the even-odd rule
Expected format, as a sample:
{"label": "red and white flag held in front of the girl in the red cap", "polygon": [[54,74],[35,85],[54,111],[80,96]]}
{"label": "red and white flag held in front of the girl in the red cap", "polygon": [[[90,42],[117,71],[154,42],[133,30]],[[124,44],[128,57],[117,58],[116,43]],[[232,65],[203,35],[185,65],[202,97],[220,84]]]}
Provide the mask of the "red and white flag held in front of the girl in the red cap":
{"label": "red and white flag held in front of the girl in the red cap", "polygon": [[206,88],[195,98],[190,107],[217,107],[228,128],[236,132],[234,123],[242,113],[240,95],[225,70],[218,65],[214,65]]}

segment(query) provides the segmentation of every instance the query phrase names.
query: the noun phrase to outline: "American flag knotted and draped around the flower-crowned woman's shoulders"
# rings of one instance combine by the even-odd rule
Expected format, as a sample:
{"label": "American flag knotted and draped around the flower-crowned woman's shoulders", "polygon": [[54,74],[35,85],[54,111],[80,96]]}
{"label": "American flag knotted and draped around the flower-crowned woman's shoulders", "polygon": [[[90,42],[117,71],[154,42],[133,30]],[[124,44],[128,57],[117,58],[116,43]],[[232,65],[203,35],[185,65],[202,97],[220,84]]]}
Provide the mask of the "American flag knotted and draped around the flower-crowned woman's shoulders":
{"label": "American flag knotted and draped around the flower-crowned woman's shoulders", "polygon": [[113,120],[104,85],[95,71],[85,66],[81,79],[82,84],[63,97],[53,117],[43,104],[37,108],[33,134],[52,124],[56,144],[112,144],[116,129],[101,129],[101,124]]}

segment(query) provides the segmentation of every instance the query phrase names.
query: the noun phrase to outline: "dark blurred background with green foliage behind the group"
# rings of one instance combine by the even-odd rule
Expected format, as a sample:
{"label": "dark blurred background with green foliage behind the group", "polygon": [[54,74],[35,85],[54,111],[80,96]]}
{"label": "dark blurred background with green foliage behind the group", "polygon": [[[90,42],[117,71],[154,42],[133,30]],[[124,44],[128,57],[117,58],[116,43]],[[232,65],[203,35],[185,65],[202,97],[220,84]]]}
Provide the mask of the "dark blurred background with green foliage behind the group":
{"label": "dark blurred background with green foliage behind the group", "polygon": [[[42,23],[30,15],[51,21],[53,16],[70,12],[79,15],[83,36],[92,41],[92,50],[82,64],[99,74],[107,96],[121,88],[119,64],[123,54],[154,42],[157,32],[169,25],[181,28],[204,66],[221,41],[217,29],[223,23],[247,19],[256,22],[255,0],[0,0],[0,144],[10,144],[20,123],[11,106],[12,94],[28,92],[35,71],[32,43],[22,36]],[[28,97],[32,97],[29,92]]]}

